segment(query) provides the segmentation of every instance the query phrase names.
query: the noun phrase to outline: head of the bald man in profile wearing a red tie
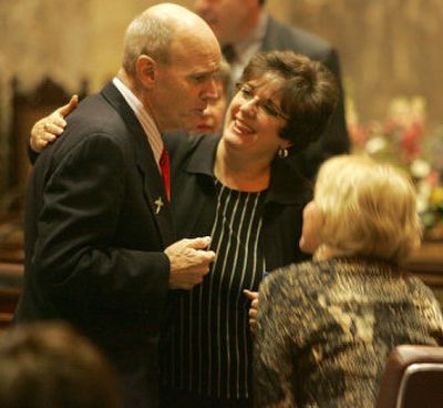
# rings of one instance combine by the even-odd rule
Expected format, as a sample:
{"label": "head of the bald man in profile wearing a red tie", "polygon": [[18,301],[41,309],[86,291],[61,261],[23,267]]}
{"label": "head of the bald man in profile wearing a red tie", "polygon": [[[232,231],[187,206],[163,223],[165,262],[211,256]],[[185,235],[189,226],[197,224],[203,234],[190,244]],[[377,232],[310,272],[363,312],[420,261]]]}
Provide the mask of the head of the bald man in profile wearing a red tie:
{"label": "head of the bald man in profile wearing a red tie", "polygon": [[192,11],[156,4],[130,24],[119,78],[161,132],[195,128],[217,98],[222,52],[209,26]]}

